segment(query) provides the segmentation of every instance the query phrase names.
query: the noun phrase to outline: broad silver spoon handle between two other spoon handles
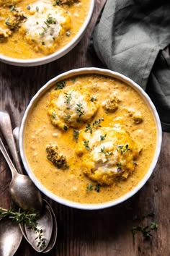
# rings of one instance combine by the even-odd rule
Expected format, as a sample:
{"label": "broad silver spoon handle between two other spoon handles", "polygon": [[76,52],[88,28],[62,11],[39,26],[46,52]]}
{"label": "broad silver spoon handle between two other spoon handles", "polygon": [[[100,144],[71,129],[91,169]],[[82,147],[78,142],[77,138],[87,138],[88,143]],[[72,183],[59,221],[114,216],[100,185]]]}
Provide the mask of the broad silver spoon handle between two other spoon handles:
{"label": "broad silver spoon handle between two other spoon handles", "polygon": [[14,163],[17,167],[17,171],[19,174],[23,174],[22,166],[19,161],[19,155],[17,152],[17,147],[14,141],[14,135],[12,131],[12,123],[8,112],[0,111],[0,129],[4,138],[9,146],[9,150],[12,153],[12,157],[14,159]]}

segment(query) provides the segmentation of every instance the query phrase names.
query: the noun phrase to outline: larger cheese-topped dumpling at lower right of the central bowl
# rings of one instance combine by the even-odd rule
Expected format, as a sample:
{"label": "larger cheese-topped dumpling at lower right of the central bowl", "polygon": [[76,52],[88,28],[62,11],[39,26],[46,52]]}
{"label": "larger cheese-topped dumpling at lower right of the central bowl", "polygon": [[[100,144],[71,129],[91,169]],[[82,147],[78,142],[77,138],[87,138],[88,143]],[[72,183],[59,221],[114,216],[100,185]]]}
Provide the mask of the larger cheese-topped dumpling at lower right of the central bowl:
{"label": "larger cheese-topped dumpling at lower right of the central bowl", "polygon": [[127,178],[136,166],[141,148],[120,127],[81,130],[76,153],[82,170],[99,184],[112,184],[117,177]]}

